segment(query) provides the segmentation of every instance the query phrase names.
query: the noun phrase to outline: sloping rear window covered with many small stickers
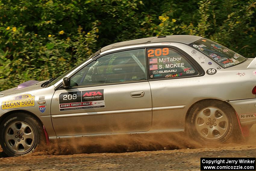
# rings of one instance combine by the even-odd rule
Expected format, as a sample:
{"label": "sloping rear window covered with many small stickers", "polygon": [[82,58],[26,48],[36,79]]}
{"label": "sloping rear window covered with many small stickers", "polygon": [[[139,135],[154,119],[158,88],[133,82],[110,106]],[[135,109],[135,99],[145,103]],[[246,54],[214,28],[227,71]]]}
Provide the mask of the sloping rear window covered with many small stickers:
{"label": "sloping rear window covered with many small stickers", "polygon": [[208,39],[198,40],[190,46],[207,55],[222,68],[232,67],[246,61],[242,55]]}

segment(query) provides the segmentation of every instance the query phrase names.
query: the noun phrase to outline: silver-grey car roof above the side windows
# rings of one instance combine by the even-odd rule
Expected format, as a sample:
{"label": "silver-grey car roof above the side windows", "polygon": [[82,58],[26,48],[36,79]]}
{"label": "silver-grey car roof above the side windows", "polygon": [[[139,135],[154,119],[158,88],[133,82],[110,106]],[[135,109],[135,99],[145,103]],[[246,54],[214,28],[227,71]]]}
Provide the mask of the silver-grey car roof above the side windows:
{"label": "silver-grey car roof above the side windows", "polygon": [[172,35],[172,36],[158,36],[158,37],[147,37],[143,39],[136,40],[128,40],[124,42],[114,43],[108,46],[105,46],[100,49],[100,52],[104,52],[109,49],[114,49],[121,46],[129,46],[129,45],[138,45],[145,43],[159,43],[159,42],[177,42],[177,43],[185,43],[190,44],[197,40],[202,39],[200,36],[191,36],[191,35]]}

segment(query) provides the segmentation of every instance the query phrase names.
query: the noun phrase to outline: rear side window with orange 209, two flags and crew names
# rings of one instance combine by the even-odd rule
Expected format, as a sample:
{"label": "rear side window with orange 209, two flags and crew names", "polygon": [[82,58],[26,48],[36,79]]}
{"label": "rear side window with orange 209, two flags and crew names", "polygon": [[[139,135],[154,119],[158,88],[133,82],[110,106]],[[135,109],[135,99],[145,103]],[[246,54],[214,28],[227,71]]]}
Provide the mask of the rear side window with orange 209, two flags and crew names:
{"label": "rear side window with orange 209, two flags and crew names", "polygon": [[151,80],[198,74],[197,69],[183,55],[168,47],[148,48],[147,59]]}

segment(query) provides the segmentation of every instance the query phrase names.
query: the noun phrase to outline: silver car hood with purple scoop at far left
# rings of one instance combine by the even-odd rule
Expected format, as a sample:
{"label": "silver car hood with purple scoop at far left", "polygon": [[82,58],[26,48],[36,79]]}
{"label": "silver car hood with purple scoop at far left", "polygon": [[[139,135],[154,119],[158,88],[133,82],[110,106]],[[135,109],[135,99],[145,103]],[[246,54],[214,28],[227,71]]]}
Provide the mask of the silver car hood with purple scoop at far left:
{"label": "silver car hood with purple scoop at far left", "polygon": [[17,87],[1,91],[0,98],[6,97],[6,96],[11,96],[14,94],[25,93],[25,92],[28,92],[31,90],[43,89],[43,87],[41,87],[41,85],[46,81],[39,82],[39,81],[31,80],[31,81],[24,82],[22,84],[19,84]]}

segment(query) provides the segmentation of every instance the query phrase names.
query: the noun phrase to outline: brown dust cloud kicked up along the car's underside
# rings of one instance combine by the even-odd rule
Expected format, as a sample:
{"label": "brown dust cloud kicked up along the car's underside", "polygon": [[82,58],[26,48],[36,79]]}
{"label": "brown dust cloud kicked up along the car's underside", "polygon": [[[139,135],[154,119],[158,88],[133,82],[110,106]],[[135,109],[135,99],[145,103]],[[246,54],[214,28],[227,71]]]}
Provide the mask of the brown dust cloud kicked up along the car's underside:
{"label": "brown dust cloud kicked up along the car's underside", "polygon": [[222,144],[200,144],[189,138],[186,133],[158,133],[105,135],[101,137],[81,137],[58,139],[39,152],[30,155],[69,155],[81,153],[123,153],[135,151],[175,150],[206,147],[235,147],[250,145],[256,147],[255,124],[250,129],[250,136],[239,138],[234,136]]}

